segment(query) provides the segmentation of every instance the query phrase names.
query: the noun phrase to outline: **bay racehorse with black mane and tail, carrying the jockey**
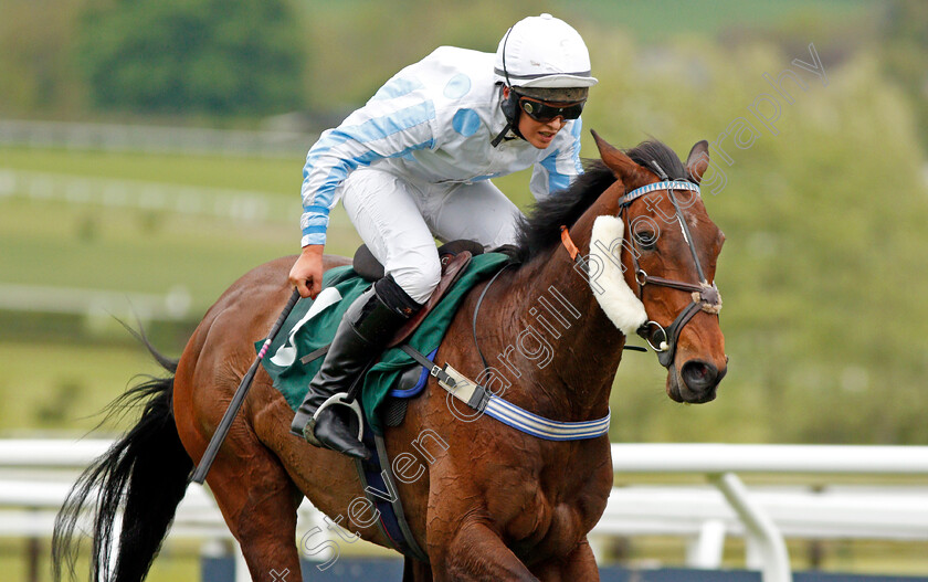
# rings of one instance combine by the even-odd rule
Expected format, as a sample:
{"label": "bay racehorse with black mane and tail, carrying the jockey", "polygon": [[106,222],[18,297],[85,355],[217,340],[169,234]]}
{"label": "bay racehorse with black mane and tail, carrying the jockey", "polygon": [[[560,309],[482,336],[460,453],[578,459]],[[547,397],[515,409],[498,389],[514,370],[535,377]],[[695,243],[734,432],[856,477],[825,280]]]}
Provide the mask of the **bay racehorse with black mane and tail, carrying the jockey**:
{"label": "bay racehorse with black mane and tail, carrying the jockey", "polygon": [[[684,165],[658,141],[623,151],[593,136],[601,160],[568,190],[536,204],[508,251],[512,264],[493,285],[484,281],[471,289],[435,362],[478,381],[496,370],[496,391],[505,387],[509,402],[547,419],[589,421],[609,414],[626,336],[640,329],[660,350],[671,399],[713,400],[727,369],[720,299],[709,286],[724,235],[692,191],[708,166],[707,144],[696,144]],[[678,188],[684,183],[688,190]],[[648,184],[654,191],[640,190]],[[632,191],[640,193],[629,198]],[[147,575],[194,463],[254,359],[254,342],[291,295],[293,261],[273,261],[235,282],[207,311],[179,360],[148,346],[171,375],[117,401],[145,409],[62,508],[55,580],[73,574],[75,532],[87,508],[95,516],[91,578],[129,582]],[[326,268],[348,263],[327,256]],[[566,313],[544,317],[537,306],[552,289]],[[488,367],[483,355],[495,364]],[[431,378],[410,401],[405,421],[386,431],[391,456],[422,453],[405,457],[405,475],[419,478],[397,485],[428,562],[405,558],[403,580],[599,580],[587,535],[612,487],[608,435],[544,440],[486,416],[462,419],[445,396]],[[260,370],[207,477],[256,581],[299,572],[295,528],[304,496],[331,521],[390,547],[372,520],[357,511],[345,520],[363,494],[354,463],[292,435],[293,414]],[[412,447],[422,445],[423,431],[433,435],[430,446]]]}

